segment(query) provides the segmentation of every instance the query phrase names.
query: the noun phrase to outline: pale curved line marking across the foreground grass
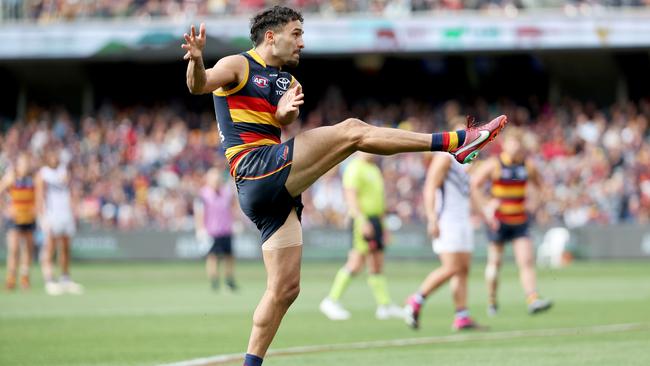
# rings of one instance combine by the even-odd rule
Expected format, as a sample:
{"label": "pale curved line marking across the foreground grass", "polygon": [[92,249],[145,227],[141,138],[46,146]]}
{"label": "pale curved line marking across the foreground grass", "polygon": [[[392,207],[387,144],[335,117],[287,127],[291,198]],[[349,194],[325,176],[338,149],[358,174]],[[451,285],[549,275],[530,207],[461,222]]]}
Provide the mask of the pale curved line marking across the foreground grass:
{"label": "pale curved line marking across the foreground grass", "polygon": [[[404,347],[418,346],[424,344],[442,344],[471,341],[494,341],[503,339],[512,339],[519,337],[555,337],[555,336],[572,336],[585,334],[604,334],[628,332],[634,330],[650,330],[650,323],[627,323],[627,324],[609,324],[596,325],[590,327],[576,328],[556,328],[556,329],[530,329],[514,330],[505,332],[485,332],[485,333],[464,333],[449,336],[422,337],[422,338],[403,338],[390,339],[383,341],[368,341],[354,343],[322,344],[313,346],[289,347],[284,349],[272,349],[267,352],[267,356],[287,356],[299,355],[305,353],[319,353],[332,351],[349,351],[382,347]],[[188,361],[164,364],[161,366],[214,366],[223,365],[235,361],[243,361],[244,355],[241,353],[231,353],[217,355],[212,357],[196,358]]]}

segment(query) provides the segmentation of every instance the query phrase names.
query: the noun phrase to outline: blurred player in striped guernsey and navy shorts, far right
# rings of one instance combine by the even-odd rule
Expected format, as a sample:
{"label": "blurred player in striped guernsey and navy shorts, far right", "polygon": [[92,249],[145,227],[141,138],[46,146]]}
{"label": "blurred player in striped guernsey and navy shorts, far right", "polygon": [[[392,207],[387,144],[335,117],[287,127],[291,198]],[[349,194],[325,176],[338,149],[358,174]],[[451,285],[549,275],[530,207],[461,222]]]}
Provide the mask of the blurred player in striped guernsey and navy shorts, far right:
{"label": "blurred player in striped guernsey and navy shorts, far right", "polygon": [[[530,218],[526,208],[526,194],[528,183],[540,190],[542,181],[532,161],[526,158],[523,138],[521,129],[509,129],[504,135],[501,155],[489,158],[477,167],[472,176],[473,194],[482,202],[481,207],[486,210],[485,217],[490,221],[496,220],[489,225],[493,229],[488,233],[490,245],[485,267],[488,315],[491,316],[496,315],[498,311],[499,270],[507,242],[512,242],[519,268],[519,280],[526,293],[528,312],[536,314],[552,306],[550,300],[541,298],[537,292],[535,252],[528,233]],[[492,184],[489,200],[482,192],[487,181]]]}

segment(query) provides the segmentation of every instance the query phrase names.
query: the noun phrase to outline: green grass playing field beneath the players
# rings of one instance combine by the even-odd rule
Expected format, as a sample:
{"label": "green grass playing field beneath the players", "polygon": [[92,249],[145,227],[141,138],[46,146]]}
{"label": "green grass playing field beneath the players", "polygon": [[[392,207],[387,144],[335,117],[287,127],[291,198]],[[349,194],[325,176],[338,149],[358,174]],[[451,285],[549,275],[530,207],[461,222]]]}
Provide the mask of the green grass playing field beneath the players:
{"label": "green grass playing field beneath the players", "polygon": [[[548,314],[530,317],[515,268],[506,267],[501,313],[484,314],[482,268],[470,283],[470,308],[490,331],[454,339],[448,288],[431,297],[422,328],[399,320],[375,320],[365,278],[352,283],[344,304],[353,317],[330,322],[318,312],[339,263],[305,263],[302,292],[272,349],[345,345],[393,339],[433,338],[430,344],[361,347],[267,357],[273,365],[650,365],[650,263],[586,263],[542,270],[540,288],[556,302]],[[425,262],[392,262],[387,274],[402,303],[430,269]],[[4,273],[4,268],[0,268]],[[74,277],[86,294],[50,297],[36,281],[28,293],[0,294],[0,365],[156,365],[245,351],[251,314],[264,285],[261,262],[242,263],[242,290],[214,293],[202,263],[83,263]],[[33,277],[38,277],[36,272]],[[617,332],[597,325],[634,323]],[[548,334],[536,330],[576,328]],[[501,337],[521,330],[521,336]],[[494,335],[491,337],[490,335]],[[503,338],[503,339],[499,339]],[[437,339],[437,340],[436,340]],[[454,340],[453,342],[448,342]],[[371,347],[372,346],[372,347]],[[241,362],[234,362],[239,365]]]}

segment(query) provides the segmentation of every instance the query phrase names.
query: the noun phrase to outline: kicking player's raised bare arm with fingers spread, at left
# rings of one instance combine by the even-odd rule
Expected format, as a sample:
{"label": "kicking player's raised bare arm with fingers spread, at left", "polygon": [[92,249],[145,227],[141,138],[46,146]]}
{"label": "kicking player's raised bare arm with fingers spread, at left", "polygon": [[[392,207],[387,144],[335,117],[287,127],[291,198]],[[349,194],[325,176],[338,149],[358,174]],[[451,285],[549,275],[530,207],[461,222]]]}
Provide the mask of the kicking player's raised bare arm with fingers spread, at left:
{"label": "kicking player's raised bare arm with fingers spread, at left", "polygon": [[181,48],[186,50],[184,60],[187,64],[187,88],[192,94],[211,93],[219,88],[239,82],[245,72],[246,60],[243,56],[227,56],[219,60],[214,67],[207,69],[203,63],[205,48],[205,24],[201,23],[199,33],[192,25],[190,34],[183,35],[185,43]]}

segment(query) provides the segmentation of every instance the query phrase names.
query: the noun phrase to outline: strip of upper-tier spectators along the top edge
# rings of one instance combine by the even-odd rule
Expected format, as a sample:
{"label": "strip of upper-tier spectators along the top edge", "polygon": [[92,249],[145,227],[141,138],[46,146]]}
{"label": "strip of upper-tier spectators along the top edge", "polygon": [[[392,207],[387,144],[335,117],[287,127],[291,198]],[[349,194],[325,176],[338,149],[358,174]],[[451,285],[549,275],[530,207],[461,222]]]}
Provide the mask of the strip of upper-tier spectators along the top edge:
{"label": "strip of upper-tier spectators along the top edge", "polygon": [[564,8],[577,10],[641,7],[650,0],[4,0],[6,19],[39,22],[109,18],[186,18],[250,15],[272,5],[286,5],[305,14],[373,14],[403,16],[412,13],[456,10]]}

